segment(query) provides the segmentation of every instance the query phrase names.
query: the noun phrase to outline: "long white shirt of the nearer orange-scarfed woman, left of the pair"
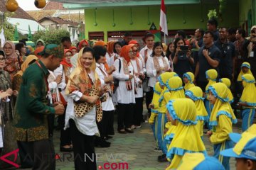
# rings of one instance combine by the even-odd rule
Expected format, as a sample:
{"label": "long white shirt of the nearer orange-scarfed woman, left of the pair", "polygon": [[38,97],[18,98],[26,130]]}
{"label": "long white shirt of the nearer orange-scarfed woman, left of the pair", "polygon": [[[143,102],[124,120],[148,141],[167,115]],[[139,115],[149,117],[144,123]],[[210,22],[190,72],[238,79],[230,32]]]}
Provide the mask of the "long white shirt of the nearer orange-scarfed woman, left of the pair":
{"label": "long white shirt of the nearer orange-scarfed woman, left of the pair", "polygon": [[[119,70],[119,60],[121,60],[121,70]],[[114,67],[116,70],[113,72],[113,77],[119,79],[119,86],[117,87],[117,102],[122,104],[135,103],[135,94],[134,94],[134,79],[132,79],[132,90],[128,91],[126,87],[126,80],[129,80],[129,75],[124,74],[123,61],[124,58],[120,57],[119,60],[114,61]],[[133,67],[131,64],[128,66],[129,72],[133,73]]]}

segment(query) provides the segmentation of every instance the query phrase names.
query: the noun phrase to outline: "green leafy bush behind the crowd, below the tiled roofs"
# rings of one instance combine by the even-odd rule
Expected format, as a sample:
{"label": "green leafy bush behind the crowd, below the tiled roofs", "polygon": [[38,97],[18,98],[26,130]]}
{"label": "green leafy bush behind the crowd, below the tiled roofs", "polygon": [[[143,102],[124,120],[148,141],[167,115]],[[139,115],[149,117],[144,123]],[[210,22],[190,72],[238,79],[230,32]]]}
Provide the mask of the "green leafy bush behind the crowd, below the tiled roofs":
{"label": "green leafy bush behind the crowd, below the tiled roofs", "polygon": [[42,39],[46,44],[60,44],[61,38],[70,37],[68,30],[64,29],[50,29],[50,30],[39,30],[33,35],[33,42],[38,39]]}

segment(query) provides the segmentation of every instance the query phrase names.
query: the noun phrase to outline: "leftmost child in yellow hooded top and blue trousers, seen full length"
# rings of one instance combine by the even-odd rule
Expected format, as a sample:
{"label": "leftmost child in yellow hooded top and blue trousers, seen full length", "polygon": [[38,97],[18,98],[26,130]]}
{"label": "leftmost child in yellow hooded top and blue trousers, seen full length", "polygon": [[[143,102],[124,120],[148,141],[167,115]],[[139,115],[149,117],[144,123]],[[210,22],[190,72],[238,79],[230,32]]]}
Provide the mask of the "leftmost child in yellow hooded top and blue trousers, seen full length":
{"label": "leftmost child in yellow hooded top and blue trousers, seen full length", "polygon": [[159,149],[162,150],[163,154],[161,156],[158,157],[159,162],[165,162],[166,161],[166,152],[167,149],[166,147],[163,147],[163,142],[164,142],[164,125],[167,123],[167,117],[166,117],[166,104],[169,101],[169,98],[171,97],[171,93],[169,92],[169,90],[167,89],[167,81],[171,78],[171,77],[178,77],[178,74],[176,74],[175,72],[165,72],[163,74],[161,74],[158,78],[159,84],[161,86],[161,94],[160,94],[160,98],[159,98],[159,102],[158,103],[151,103],[149,105],[150,108],[153,109],[157,109],[157,111],[159,111],[158,115],[157,115],[157,140],[158,140],[158,144],[159,144]]}

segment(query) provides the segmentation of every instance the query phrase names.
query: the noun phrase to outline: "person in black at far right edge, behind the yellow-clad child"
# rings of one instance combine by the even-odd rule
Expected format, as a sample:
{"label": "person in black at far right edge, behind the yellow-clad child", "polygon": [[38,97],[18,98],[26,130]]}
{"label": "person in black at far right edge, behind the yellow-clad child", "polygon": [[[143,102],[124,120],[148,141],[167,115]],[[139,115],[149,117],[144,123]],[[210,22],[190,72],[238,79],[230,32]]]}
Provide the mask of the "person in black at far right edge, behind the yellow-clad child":
{"label": "person in black at far right edge, behind the yellow-clad child", "polygon": [[252,26],[250,39],[245,43],[245,59],[251,65],[253,77],[256,77],[256,26]]}

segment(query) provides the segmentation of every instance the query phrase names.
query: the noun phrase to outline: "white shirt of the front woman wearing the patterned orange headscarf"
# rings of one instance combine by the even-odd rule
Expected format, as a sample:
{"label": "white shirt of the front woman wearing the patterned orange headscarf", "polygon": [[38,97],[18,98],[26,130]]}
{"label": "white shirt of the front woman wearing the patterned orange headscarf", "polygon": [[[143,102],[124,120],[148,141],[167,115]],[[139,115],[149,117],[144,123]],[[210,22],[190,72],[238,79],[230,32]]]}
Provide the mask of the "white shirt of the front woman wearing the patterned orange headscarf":
{"label": "white shirt of the front woman wearing the patterned orange headscarf", "polygon": [[[89,74],[92,81],[95,81],[95,77],[93,74]],[[75,109],[74,109],[74,101],[79,101],[82,97],[82,93],[80,91],[73,91],[72,94],[68,96],[68,105],[65,113],[65,127],[64,130],[69,128],[69,120],[73,119],[75,121],[75,125],[78,130],[88,136],[97,135],[100,136],[100,132],[97,128],[96,124],[96,107],[94,106],[91,111],[86,113],[82,117],[75,116]]]}

